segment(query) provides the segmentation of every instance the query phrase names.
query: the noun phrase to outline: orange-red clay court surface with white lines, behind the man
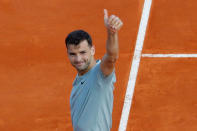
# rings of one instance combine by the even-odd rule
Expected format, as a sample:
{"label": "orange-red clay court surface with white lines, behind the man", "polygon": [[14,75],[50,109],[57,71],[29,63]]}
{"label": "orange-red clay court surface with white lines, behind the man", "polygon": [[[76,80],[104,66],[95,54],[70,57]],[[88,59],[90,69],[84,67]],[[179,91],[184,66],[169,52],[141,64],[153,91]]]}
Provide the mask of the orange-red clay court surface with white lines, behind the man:
{"label": "orange-red clay court surface with white lines, behind the man", "polygon": [[[0,131],[72,131],[69,97],[76,71],[64,39],[72,30],[86,30],[100,59],[104,8],[124,23],[112,131],[125,130],[119,127],[128,101],[126,131],[196,131],[197,1],[152,0],[143,38],[142,14],[149,13],[144,3],[0,0]],[[126,95],[132,94],[128,88],[133,96]]]}

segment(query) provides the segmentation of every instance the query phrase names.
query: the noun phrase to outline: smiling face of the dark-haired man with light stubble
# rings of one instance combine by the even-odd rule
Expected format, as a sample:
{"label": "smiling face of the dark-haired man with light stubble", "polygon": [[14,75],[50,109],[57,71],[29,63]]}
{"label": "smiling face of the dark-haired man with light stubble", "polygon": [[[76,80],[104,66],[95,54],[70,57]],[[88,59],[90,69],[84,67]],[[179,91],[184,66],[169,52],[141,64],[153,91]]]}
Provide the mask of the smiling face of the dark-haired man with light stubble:
{"label": "smiling face of the dark-haired man with light stubble", "polygon": [[67,48],[68,58],[71,64],[78,70],[84,71],[88,69],[95,50],[94,47],[88,45],[87,40],[81,41],[78,45],[70,44]]}

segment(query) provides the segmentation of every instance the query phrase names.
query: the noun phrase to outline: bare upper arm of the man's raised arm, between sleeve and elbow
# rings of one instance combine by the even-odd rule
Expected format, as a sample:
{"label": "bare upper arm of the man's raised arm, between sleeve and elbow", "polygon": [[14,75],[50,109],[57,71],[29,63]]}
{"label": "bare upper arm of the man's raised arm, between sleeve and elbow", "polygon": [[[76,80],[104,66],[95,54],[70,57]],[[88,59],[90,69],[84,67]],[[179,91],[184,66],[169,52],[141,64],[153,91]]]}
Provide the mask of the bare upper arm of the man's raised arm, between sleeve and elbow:
{"label": "bare upper arm of the man's raised arm, between sleeve and elbow", "polygon": [[105,54],[101,60],[101,71],[105,76],[110,75],[115,68],[116,59]]}

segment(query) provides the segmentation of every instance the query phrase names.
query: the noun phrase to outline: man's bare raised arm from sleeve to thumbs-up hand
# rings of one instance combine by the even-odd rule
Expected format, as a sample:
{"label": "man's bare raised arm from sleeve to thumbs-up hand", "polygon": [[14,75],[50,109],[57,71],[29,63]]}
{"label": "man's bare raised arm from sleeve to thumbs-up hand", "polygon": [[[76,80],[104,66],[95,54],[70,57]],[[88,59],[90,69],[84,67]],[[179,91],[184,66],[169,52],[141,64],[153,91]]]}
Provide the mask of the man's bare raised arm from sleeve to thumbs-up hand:
{"label": "man's bare raised arm from sleeve to thumbs-up hand", "polygon": [[118,59],[118,31],[122,27],[122,21],[115,15],[108,17],[108,12],[104,9],[104,24],[107,30],[106,54],[101,60],[101,71],[105,76],[112,73]]}

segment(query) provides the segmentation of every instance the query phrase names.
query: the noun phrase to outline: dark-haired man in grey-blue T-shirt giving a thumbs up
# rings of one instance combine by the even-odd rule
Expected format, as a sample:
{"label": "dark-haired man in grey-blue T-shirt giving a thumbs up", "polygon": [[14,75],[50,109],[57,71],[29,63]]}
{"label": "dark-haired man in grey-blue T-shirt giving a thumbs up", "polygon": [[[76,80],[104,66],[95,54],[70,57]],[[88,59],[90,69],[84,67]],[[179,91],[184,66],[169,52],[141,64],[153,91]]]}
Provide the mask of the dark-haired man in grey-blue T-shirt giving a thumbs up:
{"label": "dark-haired man in grey-blue T-shirt giving a thumbs up", "polygon": [[123,23],[104,9],[104,25],[106,54],[101,60],[95,60],[95,47],[87,32],[75,30],[65,40],[70,63],[78,72],[70,96],[74,131],[110,131],[112,127],[118,31]]}

